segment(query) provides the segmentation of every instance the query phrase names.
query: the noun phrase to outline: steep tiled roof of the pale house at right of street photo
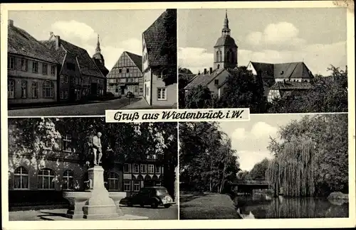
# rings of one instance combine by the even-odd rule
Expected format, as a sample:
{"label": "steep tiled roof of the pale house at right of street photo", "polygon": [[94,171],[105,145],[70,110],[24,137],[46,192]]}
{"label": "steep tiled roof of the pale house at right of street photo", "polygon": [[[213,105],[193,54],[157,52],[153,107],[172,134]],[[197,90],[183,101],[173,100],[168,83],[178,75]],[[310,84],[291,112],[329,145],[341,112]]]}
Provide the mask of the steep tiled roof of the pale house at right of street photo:
{"label": "steep tiled roof of the pale house at right of street photo", "polygon": [[147,48],[147,58],[149,66],[167,65],[167,55],[161,55],[161,46],[166,37],[166,30],[164,28],[164,17],[167,11],[164,11],[152,25],[142,33],[145,39]]}

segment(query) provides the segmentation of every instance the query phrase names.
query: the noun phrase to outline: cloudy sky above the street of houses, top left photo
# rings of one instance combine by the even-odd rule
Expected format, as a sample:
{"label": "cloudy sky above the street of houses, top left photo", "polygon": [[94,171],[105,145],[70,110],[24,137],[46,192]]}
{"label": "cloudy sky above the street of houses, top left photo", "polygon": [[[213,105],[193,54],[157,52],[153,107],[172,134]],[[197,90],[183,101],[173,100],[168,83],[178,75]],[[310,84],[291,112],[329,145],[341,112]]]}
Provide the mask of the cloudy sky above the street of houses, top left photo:
{"label": "cloudy sky above the street of houses, top left photo", "polygon": [[142,55],[142,32],[163,13],[158,10],[112,11],[9,11],[14,26],[38,40],[52,31],[61,38],[95,53],[97,34],[106,67],[111,70],[123,51]]}

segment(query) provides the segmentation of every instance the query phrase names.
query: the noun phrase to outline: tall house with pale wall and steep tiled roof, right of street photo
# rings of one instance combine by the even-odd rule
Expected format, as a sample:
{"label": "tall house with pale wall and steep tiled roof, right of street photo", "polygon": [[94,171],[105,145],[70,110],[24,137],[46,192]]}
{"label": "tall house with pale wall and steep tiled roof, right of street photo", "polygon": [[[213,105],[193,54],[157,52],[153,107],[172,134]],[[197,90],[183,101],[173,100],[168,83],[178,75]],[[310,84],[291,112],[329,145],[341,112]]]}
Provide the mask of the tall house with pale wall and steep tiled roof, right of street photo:
{"label": "tall house with pale wall and steep tiled roof, right of street photo", "polygon": [[[177,83],[166,84],[164,78],[169,74],[167,55],[160,54],[166,36],[164,11],[152,25],[142,33],[142,72],[143,97],[150,106],[172,108],[177,104]],[[177,67],[175,67],[177,68]]]}

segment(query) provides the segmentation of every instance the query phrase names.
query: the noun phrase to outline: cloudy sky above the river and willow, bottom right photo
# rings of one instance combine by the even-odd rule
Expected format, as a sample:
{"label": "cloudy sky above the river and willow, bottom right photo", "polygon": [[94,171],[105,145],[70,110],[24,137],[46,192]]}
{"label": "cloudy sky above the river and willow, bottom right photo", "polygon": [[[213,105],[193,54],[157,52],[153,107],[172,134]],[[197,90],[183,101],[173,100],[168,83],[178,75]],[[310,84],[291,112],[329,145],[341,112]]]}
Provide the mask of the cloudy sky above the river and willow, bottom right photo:
{"label": "cloudy sky above the river and willow, bottom right photo", "polygon": [[253,165],[273,155],[267,150],[270,136],[278,138],[278,128],[290,121],[302,119],[303,114],[250,115],[250,121],[220,122],[221,131],[231,138],[232,148],[237,150],[241,170],[251,170]]}

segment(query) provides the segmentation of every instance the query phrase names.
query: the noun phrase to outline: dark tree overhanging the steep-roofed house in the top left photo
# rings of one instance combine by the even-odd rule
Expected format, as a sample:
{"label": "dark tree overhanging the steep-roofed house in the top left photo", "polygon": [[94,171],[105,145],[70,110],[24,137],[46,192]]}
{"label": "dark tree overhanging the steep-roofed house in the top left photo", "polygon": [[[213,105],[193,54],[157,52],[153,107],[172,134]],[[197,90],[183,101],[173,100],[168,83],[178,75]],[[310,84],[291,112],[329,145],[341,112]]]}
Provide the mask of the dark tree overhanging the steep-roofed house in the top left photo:
{"label": "dark tree overhanging the steep-roofed house in the top left photo", "polygon": [[160,54],[167,58],[166,86],[177,83],[177,9],[167,9],[164,15],[165,36]]}

